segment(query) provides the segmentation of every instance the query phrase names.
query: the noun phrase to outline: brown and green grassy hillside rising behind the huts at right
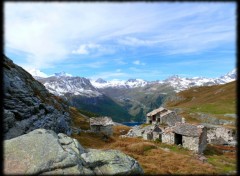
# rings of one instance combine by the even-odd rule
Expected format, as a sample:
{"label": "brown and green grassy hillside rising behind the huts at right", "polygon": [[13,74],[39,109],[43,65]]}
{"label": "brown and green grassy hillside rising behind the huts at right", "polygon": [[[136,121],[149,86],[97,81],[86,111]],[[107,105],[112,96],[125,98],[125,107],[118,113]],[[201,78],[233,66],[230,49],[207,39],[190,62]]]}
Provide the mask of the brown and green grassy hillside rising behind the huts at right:
{"label": "brown and green grassy hillside rising behind the huts at right", "polygon": [[[234,126],[236,118],[236,81],[214,86],[195,87],[179,92],[166,103],[170,109],[178,109],[191,122],[205,122],[211,117],[225,125]],[[211,120],[210,120],[211,121]]]}

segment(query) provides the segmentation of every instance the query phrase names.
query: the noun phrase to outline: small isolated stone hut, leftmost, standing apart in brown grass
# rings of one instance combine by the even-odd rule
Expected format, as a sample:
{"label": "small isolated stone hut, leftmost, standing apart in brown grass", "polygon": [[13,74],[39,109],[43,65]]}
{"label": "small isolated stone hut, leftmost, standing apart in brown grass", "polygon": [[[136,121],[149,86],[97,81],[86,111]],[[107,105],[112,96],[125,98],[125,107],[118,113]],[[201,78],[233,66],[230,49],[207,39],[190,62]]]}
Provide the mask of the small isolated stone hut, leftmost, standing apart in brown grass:
{"label": "small isolated stone hut, leftmost, standing apart in brown grass", "polygon": [[110,117],[92,117],[90,118],[90,129],[92,132],[100,133],[107,136],[113,135],[113,121]]}

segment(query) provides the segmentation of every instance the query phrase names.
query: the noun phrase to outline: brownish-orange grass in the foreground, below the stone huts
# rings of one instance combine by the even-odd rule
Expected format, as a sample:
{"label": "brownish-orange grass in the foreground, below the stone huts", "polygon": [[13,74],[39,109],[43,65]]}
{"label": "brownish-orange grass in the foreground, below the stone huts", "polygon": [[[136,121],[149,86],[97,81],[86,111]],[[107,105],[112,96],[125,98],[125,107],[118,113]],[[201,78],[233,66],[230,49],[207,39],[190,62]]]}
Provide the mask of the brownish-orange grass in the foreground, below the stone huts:
{"label": "brownish-orange grass in the foreground, below the stone huts", "polygon": [[[89,129],[89,121],[76,108],[70,108],[73,126]],[[221,153],[208,147],[207,163],[197,160],[193,153],[184,148],[146,141],[141,138],[120,138],[130,127],[114,126],[114,135],[103,140],[101,134],[74,134],[83,147],[95,149],[116,149],[135,158],[145,174],[224,174],[236,170],[235,153]],[[191,163],[191,164],[190,164]]]}

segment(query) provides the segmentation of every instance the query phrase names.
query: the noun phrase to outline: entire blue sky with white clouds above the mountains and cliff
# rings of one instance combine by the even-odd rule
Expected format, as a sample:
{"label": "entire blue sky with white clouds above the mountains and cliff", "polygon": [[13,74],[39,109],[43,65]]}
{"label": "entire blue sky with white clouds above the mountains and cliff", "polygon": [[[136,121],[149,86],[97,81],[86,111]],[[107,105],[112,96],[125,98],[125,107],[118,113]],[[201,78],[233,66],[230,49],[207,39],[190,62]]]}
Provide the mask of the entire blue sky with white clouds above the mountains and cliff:
{"label": "entire blue sky with white clouds above the mountains and cliff", "polygon": [[4,53],[91,79],[216,78],[236,68],[236,3],[4,2]]}

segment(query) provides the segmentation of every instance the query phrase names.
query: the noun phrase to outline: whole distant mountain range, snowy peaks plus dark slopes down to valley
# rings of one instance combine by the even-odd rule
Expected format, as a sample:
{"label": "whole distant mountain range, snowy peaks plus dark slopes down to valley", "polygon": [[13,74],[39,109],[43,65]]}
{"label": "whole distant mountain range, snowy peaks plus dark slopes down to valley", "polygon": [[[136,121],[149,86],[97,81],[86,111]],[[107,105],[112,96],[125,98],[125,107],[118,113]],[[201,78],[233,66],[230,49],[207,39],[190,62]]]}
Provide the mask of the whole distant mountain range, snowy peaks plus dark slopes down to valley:
{"label": "whole distant mountain range, snowy peaks plus dark slopes down to valley", "polygon": [[199,86],[223,85],[236,79],[236,70],[215,79],[175,75],[163,81],[92,80],[65,72],[44,78],[40,77],[43,73],[39,74],[36,70],[32,74],[51,93],[67,99],[71,106],[111,116],[116,122],[144,122],[146,113],[164,105],[180,91]]}

